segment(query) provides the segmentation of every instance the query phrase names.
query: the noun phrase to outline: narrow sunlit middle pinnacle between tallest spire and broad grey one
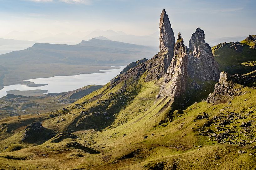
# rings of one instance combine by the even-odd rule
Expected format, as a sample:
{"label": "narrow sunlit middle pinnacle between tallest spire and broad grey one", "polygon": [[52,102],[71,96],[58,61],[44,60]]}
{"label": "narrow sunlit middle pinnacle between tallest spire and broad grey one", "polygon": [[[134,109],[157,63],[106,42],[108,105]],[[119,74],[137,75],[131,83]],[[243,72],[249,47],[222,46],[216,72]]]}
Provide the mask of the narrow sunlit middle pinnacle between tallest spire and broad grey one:
{"label": "narrow sunlit middle pinnacle between tallest spire and broad grey one", "polygon": [[183,44],[183,38],[178,35],[174,47],[174,57],[165,76],[165,84],[161,86],[160,95],[169,95],[174,99],[185,93],[187,83],[187,49]]}

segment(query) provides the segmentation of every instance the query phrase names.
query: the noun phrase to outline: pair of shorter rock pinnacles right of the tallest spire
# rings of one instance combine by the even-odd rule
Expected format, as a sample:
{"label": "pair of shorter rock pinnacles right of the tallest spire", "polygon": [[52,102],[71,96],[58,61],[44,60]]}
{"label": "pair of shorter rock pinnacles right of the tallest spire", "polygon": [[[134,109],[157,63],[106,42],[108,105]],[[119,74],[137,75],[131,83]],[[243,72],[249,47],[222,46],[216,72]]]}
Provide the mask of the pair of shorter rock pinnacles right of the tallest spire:
{"label": "pair of shorter rock pinnacles right of the tallest spire", "polygon": [[[165,76],[165,84],[161,86],[157,98],[170,96],[173,106],[184,107],[185,104],[191,102],[192,94],[197,95],[204,90],[203,81],[219,79],[217,62],[213,58],[211,47],[204,38],[204,31],[197,28],[196,32],[192,34],[189,41],[190,46],[187,49],[179,33],[174,57]],[[191,84],[188,83],[189,79],[193,80]],[[179,102],[175,103],[175,101]]]}

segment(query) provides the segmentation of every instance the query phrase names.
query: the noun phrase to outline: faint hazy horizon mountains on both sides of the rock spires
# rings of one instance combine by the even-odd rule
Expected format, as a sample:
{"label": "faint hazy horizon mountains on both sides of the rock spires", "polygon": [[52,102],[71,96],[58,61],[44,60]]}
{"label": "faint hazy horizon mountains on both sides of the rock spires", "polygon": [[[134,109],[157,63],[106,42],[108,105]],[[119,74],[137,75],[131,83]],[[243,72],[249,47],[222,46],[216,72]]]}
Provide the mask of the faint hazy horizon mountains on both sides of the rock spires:
{"label": "faint hazy horizon mountains on both sides of the rock spires", "polygon": [[[177,30],[176,30],[177,32]],[[246,36],[232,36],[232,37],[216,37],[211,32],[206,31],[206,41],[209,43],[210,46],[215,46],[222,42],[236,42],[242,41]],[[186,36],[190,37],[189,34]],[[103,38],[104,37],[104,38]],[[125,43],[132,43],[132,44],[139,44],[144,46],[159,46],[159,32],[154,32],[150,35],[144,36],[136,36],[126,34],[122,31],[113,31],[113,30],[95,30],[92,32],[73,32],[71,34],[66,33],[59,33],[59,34],[43,34],[40,35],[36,32],[17,32],[13,31],[8,33],[7,35],[3,36],[3,38],[11,38],[16,40],[30,40],[36,41],[40,43],[53,43],[53,44],[69,44],[75,45],[81,42],[82,40],[90,40],[92,38],[102,39],[102,40],[112,40],[112,41],[120,41]],[[1,40],[0,40],[1,43]],[[188,44],[185,44],[188,46]],[[18,49],[20,50],[20,49]]]}

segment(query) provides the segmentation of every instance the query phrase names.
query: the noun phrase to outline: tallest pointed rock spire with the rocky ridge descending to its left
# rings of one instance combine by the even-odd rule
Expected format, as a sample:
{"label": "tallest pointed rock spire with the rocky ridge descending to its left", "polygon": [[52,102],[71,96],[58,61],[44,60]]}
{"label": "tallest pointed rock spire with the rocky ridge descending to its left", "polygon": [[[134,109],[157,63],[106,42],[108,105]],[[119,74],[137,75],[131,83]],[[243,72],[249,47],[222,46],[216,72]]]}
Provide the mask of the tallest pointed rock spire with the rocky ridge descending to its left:
{"label": "tallest pointed rock spire with the rocky ridge descending to its left", "polygon": [[144,78],[144,81],[146,82],[165,77],[167,74],[167,69],[170,66],[173,58],[173,50],[175,45],[174,33],[165,10],[163,10],[161,13],[159,26],[160,52],[154,55],[150,60],[130,68],[128,71],[112,79],[110,81],[111,87],[114,87],[123,80],[131,79],[131,81],[126,81],[127,86],[129,86],[129,82],[138,80],[138,78],[144,74],[144,72],[147,72]]}

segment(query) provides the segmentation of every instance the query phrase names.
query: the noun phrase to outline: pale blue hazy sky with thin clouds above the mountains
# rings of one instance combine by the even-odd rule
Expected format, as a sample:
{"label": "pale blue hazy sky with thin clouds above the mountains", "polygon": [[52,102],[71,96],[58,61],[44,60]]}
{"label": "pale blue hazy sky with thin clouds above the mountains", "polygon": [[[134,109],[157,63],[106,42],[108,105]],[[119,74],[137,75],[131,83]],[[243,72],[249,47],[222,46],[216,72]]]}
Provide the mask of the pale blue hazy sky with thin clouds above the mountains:
{"label": "pale blue hazy sky with thin clouds above the mountains", "polygon": [[0,0],[0,37],[96,29],[148,35],[159,30],[162,9],[175,36],[179,31],[188,38],[197,27],[206,36],[256,34],[255,0]]}

